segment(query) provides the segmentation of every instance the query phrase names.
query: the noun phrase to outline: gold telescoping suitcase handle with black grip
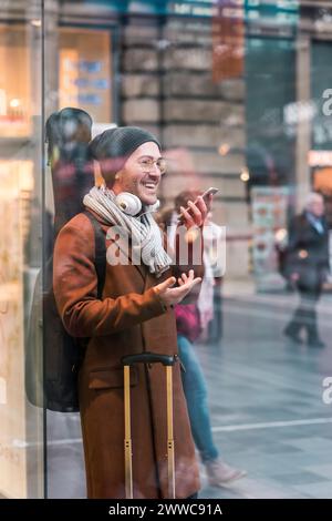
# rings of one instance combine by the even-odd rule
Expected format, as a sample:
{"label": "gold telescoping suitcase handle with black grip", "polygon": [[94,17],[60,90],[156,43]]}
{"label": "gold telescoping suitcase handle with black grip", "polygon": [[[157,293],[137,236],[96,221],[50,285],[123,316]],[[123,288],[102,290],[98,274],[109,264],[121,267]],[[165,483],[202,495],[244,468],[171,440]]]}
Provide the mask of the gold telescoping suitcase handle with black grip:
{"label": "gold telescoping suitcase handle with black grip", "polygon": [[168,497],[175,499],[175,462],[173,438],[173,375],[172,366],[176,356],[158,355],[145,351],[137,355],[128,355],[122,358],[124,366],[124,411],[125,411],[125,488],[126,498],[133,499],[133,463],[132,463],[132,432],[131,432],[131,366],[134,364],[163,364],[166,367],[167,386],[167,470],[168,470]]}

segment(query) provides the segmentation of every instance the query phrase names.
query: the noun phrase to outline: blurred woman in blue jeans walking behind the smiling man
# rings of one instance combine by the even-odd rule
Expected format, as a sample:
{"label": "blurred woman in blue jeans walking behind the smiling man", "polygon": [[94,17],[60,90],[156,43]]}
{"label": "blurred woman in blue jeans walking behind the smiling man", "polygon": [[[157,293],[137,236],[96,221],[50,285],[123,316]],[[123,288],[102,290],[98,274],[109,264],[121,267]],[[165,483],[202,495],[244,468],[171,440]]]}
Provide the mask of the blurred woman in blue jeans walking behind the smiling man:
{"label": "blurred woman in blue jeans walking behind the smiling man", "polygon": [[[175,208],[165,210],[158,215],[157,222],[165,232],[168,231],[170,245],[175,241],[180,206],[186,207],[188,201],[194,202],[200,194],[201,192],[194,190],[181,192],[175,200]],[[177,343],[183,365],[184,391],[195,445],[205,466],[209,484],[222,487],[245,477],[247,472],[229,466],[220,458],[211,431],[206,380],[194,349],[194,343],[200,338],[201,334],[204,331],[208,334],[208,325],[214,318],[214,270],[206,251],[204,253],[204,264],[205,276],[197,304],[186,304],[186,300],[184,300],[175,306]]]}

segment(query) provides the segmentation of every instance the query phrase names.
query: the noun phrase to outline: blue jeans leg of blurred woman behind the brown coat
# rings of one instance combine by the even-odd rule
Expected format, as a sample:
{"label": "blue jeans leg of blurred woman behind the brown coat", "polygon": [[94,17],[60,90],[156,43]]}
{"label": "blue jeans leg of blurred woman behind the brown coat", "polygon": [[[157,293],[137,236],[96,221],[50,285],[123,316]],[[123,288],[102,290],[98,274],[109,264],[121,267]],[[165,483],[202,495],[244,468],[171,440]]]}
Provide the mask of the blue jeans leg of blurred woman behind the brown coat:
{"label": "blue jeans leg of blurred woman behind the brown coat", "polygon": [[178,354],[186,369],[181,371],[194,441],[204,462],[218,458],[214,443],[207,402],[207,388],[193,344],[183,335],[177,336]]}

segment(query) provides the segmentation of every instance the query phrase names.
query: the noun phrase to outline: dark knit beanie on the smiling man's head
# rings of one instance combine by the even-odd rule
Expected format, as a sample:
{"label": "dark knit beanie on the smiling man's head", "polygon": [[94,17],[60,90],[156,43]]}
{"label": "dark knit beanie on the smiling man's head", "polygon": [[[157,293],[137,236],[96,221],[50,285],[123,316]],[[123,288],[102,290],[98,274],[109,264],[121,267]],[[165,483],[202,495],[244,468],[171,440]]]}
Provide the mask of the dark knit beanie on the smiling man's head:
{"label": "dark knit beanie on the smiling man's head", "polygon": [[95,160],[118,159],[123,166],[129,155],[148,141],[156,143],[160,150],[156,137],[146,130],[139,126],[117,126],[96,135],[90,143],[90,150]]}

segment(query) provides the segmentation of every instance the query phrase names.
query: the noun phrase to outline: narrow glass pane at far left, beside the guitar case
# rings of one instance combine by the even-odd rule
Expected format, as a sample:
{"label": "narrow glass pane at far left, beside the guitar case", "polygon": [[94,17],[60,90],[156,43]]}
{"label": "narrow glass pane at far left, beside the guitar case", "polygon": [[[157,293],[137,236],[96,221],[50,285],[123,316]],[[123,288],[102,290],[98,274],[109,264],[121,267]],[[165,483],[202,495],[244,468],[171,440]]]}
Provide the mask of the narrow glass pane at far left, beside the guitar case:
{"label": "narrow glass pane at far left, beside the guitar case", "polygon": [[25,21],[14,24],[6,3],[0,25],[0,494],[41,498],[43,409],[30,392],[42,365],[42,344],[34,358],[30,337],[41,339],[42,326],[40,310],[35,324],[31,320],[32,303],[41,302],[35,284],[42,262],[41,3],[34,2],[33,11],[23,8]]}

